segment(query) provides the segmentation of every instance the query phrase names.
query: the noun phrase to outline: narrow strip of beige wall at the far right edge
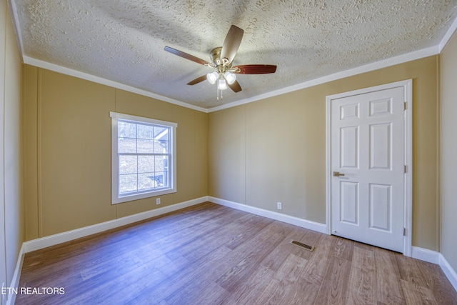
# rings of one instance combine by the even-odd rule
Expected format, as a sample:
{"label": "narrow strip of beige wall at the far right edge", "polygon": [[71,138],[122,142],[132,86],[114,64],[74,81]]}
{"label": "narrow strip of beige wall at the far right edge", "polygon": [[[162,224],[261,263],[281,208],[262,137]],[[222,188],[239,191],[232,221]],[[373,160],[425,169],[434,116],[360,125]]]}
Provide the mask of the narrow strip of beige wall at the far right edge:
{"label": "narrow strip of beige wall at the far right edge", "polygon": [[457,34],[441,55],[441,254],[457,271]]}

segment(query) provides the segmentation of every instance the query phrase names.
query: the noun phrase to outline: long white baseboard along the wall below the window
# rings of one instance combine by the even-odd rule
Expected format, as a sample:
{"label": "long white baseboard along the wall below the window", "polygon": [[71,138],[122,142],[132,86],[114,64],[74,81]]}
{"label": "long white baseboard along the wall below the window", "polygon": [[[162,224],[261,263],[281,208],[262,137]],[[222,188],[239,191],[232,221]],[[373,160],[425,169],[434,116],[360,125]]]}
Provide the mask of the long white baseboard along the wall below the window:
{"label": "long white baseboard along the wall below the window", "polygon": [[145,211],[145,212],[142,212],[139,214],[125,216],[125,217],[122,217],[119,219],[105,221],[100,224],[84,226],[83,228],[74,229],[71,231],[66,231],[66,232],[62,232],[59,234],[54,234],[54,235],[50,235],[50,236],[46,236],[46,237],[41,237],[39,239],[34,239],[31,241],[25,241],[23,244],[24,253],[28,253],[28,252],[39,250],[39,249],[44,249],[48,246],[54,246],[56,244],[61,244],[66,241],[79,239],[84,236],[89,236],[92,234],[100,233],[102,231],[114,229],[119,226],[125,226],[126,224],[133,224],[136,221],[149,219],[154,216],[159,216],[162,214],[169,213],[171,211],[184,209],[188,206],[194,206],[196,204],[201,204],[206,201],[208,201],[208,196],[204,196],[204,197],[197,198],[197,199],[192,199],[189,201],[184,201],[179,204],[172,204],[171,206],[164,206],[159,209]]}

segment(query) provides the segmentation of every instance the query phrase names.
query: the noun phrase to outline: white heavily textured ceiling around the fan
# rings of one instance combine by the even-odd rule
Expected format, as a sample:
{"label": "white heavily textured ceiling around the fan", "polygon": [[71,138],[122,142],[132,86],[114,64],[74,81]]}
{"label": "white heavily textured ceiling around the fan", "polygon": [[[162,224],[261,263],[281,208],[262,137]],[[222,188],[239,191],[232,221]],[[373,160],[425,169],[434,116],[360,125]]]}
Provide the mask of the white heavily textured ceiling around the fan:
{"label": "white heavily textured ceiling around the fan", "polygon": [[[23,55],[169,99],[211,108],[440,43],[457,0],[11,0]],[[187,82],[211,72],[164,51],[206,61],[231,24],[244,30],[233,61],[275,64],[240,75],[243,90]]]}

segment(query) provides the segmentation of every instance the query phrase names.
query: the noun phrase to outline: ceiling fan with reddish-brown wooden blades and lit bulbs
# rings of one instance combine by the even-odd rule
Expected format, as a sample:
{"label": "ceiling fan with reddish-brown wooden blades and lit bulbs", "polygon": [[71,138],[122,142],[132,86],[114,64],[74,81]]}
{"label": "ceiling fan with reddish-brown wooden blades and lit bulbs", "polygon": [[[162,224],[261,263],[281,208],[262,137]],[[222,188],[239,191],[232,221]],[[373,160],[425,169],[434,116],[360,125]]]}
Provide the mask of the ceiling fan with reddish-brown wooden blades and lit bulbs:
{"label": "ceiling fan with reddish-brown wooden blades and lit bulbs", "polygon": [[164,50],[170,52],[171,54],[181,56],[184,59],[195,61],[197,64],[203,64],[204,66],[214,69],[214,72],[212,73],[197,77],[193,81],[189,81],[189,83],[187,83],[188,85],[199,84],[201,81],[208,79],[211,84],[216,84],[217,82],[218,90],[225,90],[227,89],[227,86],[229,86],[234,92],[239,92],[241,91],[241,86],[238,81],[236,81],[236,74],[268,74],[276,71],[276,66],[271,64],[245,64],[241,66],[232,66],[233,59],[236,56],[236,51],[238,51],[241,39],[243,39],[243,33],[243,29],[232,25],[229,29],[229,33],[227,33],[226,39],[224,40],[224,44],[212,49],[209,53],[211,62],[199,59],[198,57],[184,53],[183,51],[170,48],[169,46],[166,46]]}

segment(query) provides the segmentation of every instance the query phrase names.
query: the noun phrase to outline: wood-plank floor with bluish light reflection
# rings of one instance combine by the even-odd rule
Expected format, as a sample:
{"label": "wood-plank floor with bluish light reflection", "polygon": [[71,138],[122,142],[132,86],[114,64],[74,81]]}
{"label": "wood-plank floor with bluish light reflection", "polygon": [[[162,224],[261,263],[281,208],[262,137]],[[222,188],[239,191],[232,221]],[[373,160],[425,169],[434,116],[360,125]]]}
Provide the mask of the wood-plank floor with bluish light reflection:
{"label": "wood-plank floor with bluish light reflection", "polygon": [[19,287],[64,294],[16,304],[457,304],[439,266],[211,203],[28,253]]}

